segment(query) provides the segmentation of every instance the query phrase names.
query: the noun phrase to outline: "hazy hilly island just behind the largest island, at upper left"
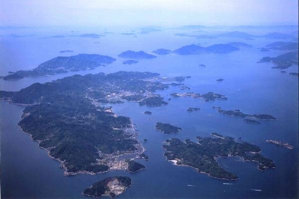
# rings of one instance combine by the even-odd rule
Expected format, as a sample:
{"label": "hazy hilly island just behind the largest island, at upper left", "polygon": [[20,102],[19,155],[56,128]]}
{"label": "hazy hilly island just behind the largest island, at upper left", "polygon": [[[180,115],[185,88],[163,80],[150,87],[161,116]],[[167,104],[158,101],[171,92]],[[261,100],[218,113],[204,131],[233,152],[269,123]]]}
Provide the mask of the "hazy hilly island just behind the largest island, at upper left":
{"label": "hazy hilly island just behind the largest island, at upper left", "polygon": [[16,71],[15,73],[4,76],[4,80],[22,79],[24,77],[35,77],[44,75],[55,75],[67,73],[69,71],[80,71],[94,69],[99,66],[111,64],[116,59],[97,54],[78,54],[69,57],[55,57],[30,71]]}

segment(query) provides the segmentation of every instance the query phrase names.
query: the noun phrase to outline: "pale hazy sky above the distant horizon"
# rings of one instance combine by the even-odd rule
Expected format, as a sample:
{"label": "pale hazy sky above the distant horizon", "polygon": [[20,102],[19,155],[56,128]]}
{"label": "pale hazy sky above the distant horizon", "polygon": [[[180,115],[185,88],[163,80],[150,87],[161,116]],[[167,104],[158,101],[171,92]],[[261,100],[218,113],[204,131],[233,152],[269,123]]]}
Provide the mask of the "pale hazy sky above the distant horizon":
{"label": "pale hazy sky above the distant horizon", "polygon": [[0,0],[0,25],[298,24],[298,0]]}

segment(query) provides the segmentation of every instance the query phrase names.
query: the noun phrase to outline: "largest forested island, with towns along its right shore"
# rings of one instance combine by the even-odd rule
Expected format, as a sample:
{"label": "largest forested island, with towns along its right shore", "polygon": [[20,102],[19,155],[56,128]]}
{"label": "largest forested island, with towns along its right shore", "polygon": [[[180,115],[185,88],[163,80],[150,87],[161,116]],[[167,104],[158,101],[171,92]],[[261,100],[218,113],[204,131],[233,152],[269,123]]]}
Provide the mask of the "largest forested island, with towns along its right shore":
{"label": "largest forested island, with towns along its right shore", "polygon": [[[74,75],[18,92],[0,91],[0,98],[27,105],[18,125],[62,164],[65,175],[109,170],[125,154],[141,154],[129,117],[116,116],[104,102],[122,102],[128,96],[147,99],[168,88],[149,72]],[[134,100],[134,98],[133,98]]]}

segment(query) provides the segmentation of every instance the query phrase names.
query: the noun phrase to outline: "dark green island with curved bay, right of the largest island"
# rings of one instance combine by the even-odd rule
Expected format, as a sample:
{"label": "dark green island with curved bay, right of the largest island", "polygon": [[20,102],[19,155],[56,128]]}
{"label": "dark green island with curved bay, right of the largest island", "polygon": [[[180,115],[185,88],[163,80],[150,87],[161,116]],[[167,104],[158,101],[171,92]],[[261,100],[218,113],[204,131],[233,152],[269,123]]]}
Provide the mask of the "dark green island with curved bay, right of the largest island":
{"label": "dark green island with curved bay, right of the largest island", "polygon": [[272,160],[259,153],[260,147],[247,142],[235,142],[232,137],[225,137],[218,133],[213,135],[216,138],[196,137],[198,143],[189,139],[184,142],[176,138],[167,139],[167,144],[163,145],[166,150],[164,156],[176,165],[191,166],[211,177],[227,180],[236,180],[238,177],[220,167],[216,161],[217,157],[238,156],[243,157],[244,160],[257,161],[261,171],[275,168]]}

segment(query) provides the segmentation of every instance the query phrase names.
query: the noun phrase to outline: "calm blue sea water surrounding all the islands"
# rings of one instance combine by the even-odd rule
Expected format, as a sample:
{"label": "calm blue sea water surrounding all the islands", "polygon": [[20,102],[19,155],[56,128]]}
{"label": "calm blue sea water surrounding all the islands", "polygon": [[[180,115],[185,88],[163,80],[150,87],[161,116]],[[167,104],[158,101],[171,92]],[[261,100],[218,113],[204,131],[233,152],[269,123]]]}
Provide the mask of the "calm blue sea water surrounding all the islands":
{"label": "calm blue sea water surrounding all the islands", "polygon": [[[78,34],[101,33],[106,30],[78,29]],[[260,52],[260,47],[277,40],[258,38],[243,39],[196,39],[178,37],[174,33],[182,31],[168,29],[150,34],[134,36],[106,34],[99,39],[65,37],[40,39],[52,35],[71,35],[70,29],[1,30],[1,35],[15,33],[34,34],[28,37],[1,37],[0,75],[8,71],[28,70],[56,56],[76,55],[78,53],[97,53],[116,57],[125,50],[144,50],[150,52],[158,48],[176,49],[183,45],[200,43],[203,46],[242,41],[254,48],[242,48],[230,54],[165,55],[152,60],[140,60],[138,64],[122,65],[124,59],[107,67],[92,71],[81,71],[56,76],[24,78],[21,80],[0,80],[1,89],[18,91],[35,82],[48,82],[73,74],[112,73],[124,71],[149,71],[164,77],[191,76],[184,83],[197,93],[216,92],[228,100],[204,102],[199,99],[172,99],[162,107],[139,106],[137,103],[112,104],[118,115],[130,116],[140,129],[139,139],[144,143],[150,160],[138,160],[146,170],[130,174],[117,171],[101,175],[63,176],[59,162],[49,158],[47,152],[38,147],[29,135],[17,126],[23,106],[0,102],[1,130],[1,197],[2,198],[87,198],[82,191],[94,182],[108,176],[126,175],[132,179],[132,186],[118,196],[122,199],[194,199],[194,198],[297,198],[298,197],[298,78],[281,74],[271,69],[271,63],[260,63],[264,56],[276,56],[282,51]],[[211,32],[213,30],[204,30]],[[219,29],[215,30],[219,31]],[[250,30],[262,34],[273,29]],[[278,30],[276,30],[278,31]],[[286,31],[286,30],[285,30]],[[194,33],[194,32],[190,32]],[[196,32],[195,32],[196,33]],[[100,43],[94,43],[100,42]],[[61,50],[74,50],[73,53],[59,53]],[[199,64],[207,67],[200,68]],[[298,72],[298,67],[286,71]],[[225,81],[217,83],[215,80]],[[169,94],[182,91],[171,87],[158,92],[166,99]],[[217,113],[211,106],[224,109],[241,109],[249,114],[267,113],[278,118],[276,121],[262,121],[260,125],[245,123],[242,118],[229,117]],[[200,111],[187,112],[188,107],[200,107]],[[150,110],[152,115],[143,112]],[[155,122],[167,122],[182,128],[176,135],[164,135],[154,129]],[[255,162],[244,162],[239,158],[221,158],[219,164],[238,175],[238,181],[210,178],[197,173],[190,167],[174,166],[165,161],[163,141],[176,137],[195,139],[196,136],[210,136],[218,132],[231,137],[242,137],[244,141],[261,147],[262,154],[273,159],[277,169],[261,172]],[[266,142],[267,139],[283,140],[294,146],[293,150],[277,147]],[[223,183],[232,183],[225,185]],[[187,186],[193,185],[193,186]],[[261,192],[253,190],[262,190]]]}

